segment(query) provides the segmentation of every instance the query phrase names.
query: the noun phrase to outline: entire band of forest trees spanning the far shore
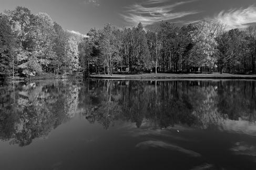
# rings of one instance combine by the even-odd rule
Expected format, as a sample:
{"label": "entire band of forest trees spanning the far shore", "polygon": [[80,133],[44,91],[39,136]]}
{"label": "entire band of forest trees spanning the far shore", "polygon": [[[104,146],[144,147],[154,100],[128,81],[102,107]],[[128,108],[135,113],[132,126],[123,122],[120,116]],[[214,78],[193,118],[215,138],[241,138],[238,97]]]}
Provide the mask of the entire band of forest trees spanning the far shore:
{"label": "entire band of forest trees spanning the far shore", "polygon": [[48,14],[16,7],[0,14],[0,77],[118,71],[255,73],[256,26],[228,30],[216,20],[161,22],[119,29],[106,24],[78,36]]}

